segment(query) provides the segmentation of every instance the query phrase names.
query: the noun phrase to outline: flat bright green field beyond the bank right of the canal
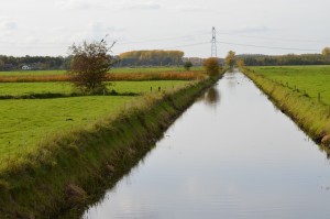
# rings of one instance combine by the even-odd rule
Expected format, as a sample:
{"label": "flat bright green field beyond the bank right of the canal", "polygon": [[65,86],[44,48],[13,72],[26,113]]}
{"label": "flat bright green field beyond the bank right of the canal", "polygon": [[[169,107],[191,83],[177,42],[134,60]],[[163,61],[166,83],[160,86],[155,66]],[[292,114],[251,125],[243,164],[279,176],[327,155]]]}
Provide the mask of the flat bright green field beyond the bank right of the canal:
{"label": "flat bright green field beyond the bank right of the canal", "polygon": [[314,100],[330,105],[330,66],[249,67],[255,74],[265,76],[293,89],[307,94]]}

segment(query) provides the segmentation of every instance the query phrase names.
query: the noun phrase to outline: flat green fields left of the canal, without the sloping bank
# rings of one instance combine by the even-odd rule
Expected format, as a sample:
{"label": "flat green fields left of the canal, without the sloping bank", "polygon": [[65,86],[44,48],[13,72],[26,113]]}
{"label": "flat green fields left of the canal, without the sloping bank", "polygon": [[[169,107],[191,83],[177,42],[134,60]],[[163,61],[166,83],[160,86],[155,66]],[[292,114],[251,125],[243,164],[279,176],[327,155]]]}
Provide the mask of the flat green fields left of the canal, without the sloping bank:
{"label": "flat green fields left of the canal, without the sloping bank", "polygon": [[[129,69],[129,72],[128,72]],[[172,68],[151,68],[144,73],[132,68],[116,69],[114,74],[180,73]],[[163,72],[164,70],[164,72]],[[24,76],[45,77],[65,76],[65,72],[9,72],[0,73],[0,77],[22,78]],[[59,94],[70,96],[76,88],[68,81],[47,83],[0,83],[0,96],[11,96],[15,99],[0,100],[0,166],[4,167],[8,158],[16,161],[37,150],[38,144],[57,134],[94,124],[103,118],[119,113],[139,96],[173,90],[194,84],[191,80],[138,80],[108,81],[109,91],[118,96],[80,96],[70,98],[22,99],[22,96],[43,94]],[[121,96],[134,94],[135,96]],[[79,96],[79,95],[78,95]],[[138,97],[136,97],[138,96]]]}

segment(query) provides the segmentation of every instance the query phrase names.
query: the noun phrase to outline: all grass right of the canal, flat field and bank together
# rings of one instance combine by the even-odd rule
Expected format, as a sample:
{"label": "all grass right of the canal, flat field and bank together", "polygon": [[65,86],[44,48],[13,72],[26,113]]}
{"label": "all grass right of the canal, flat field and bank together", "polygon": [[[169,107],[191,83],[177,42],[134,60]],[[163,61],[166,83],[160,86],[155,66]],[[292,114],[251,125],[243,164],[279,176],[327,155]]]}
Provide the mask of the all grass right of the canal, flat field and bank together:
{"label": "all grass right of the canal, flat field and bank together", "polygon": [[330,88],[329,84],[323,84],[330,78],[327,69],[329,67],[258,67],[241,70],[312,140],[330,146],[330,106],[327,103],[330,97],[323,96],[322,101],[316,96],[320,87]]}

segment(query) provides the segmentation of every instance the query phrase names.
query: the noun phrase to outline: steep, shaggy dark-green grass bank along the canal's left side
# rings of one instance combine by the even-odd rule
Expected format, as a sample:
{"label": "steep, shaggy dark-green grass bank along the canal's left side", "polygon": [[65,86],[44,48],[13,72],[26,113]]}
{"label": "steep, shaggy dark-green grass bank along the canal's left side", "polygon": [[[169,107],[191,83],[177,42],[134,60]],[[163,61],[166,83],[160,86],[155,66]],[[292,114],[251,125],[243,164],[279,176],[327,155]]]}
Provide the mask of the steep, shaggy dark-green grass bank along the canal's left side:
{"label": "steep, shaggy dark-green grass bank along the canal's left side", "polygon": [[99,197],[215,81],[143,96],[94,124],[48,136],[20,161],[9,160],[0,172],[0,217],[58,218]]}

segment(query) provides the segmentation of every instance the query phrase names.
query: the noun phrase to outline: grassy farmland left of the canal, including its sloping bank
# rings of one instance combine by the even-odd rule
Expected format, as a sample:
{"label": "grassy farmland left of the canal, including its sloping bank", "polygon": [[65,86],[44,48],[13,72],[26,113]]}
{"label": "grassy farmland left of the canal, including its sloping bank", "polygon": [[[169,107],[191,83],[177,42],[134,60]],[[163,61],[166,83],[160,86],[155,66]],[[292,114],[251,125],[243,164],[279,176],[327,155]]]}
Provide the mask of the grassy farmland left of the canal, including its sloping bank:
{"label": "grassy farmland left of the canal, including its sloping bank", "polygon": [[[165,74],[164,79],[143,80],[134,74],[113,74],[131,78],[107,81],[109,92],[100,95],[75,96],[69,81],[0,83],[0,96],[10,96],[0,99],[0,215],[57,216],[92,201],[85,193],[98,198],[221,77],[198,72],[200,79],[184,79],[190,73],[160,72],[151,74]],[[136,73],[143,74],[150,73]],[[173,80],[173,74],[182,78]],[[82,196],[70,188],[82,189]]]}

